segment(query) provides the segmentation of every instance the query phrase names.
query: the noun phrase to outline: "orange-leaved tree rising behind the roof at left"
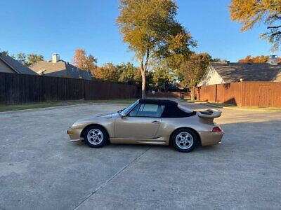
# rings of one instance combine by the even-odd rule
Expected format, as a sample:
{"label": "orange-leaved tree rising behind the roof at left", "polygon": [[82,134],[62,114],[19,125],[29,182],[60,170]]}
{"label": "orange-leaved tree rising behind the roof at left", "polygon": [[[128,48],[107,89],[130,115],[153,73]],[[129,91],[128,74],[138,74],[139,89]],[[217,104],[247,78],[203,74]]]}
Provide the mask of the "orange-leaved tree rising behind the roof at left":
{"label": "orange-leaved tree rising behind the roof at left", "polygon": [[97,68],[98,59],[93,57],[93,55],[87,55],[84,49],[75,50],[72,64],[77,66],[79,69],[93,71]]}

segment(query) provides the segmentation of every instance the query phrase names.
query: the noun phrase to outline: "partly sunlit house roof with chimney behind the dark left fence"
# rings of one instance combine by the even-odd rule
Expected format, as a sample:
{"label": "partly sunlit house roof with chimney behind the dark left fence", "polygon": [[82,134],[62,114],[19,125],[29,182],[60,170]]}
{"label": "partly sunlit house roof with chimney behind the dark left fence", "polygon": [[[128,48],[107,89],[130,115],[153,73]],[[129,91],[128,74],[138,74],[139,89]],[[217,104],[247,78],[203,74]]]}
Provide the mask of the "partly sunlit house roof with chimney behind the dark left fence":
{"label": "partly sunlit house roof with chimney behind the dark left fence", "polygon": [[56,63],[51,61],[39,61],[30,66],[30,69],[39,73],[39,71],[44,71],[44,75],[46,76],[69,76],[71,78],[83,78],[86,80],[91,80],[92,77],[89,71],[84,71],[79,69],[77,66],[73,66],[72,64],[65,62],[63,60],[59,60]]}

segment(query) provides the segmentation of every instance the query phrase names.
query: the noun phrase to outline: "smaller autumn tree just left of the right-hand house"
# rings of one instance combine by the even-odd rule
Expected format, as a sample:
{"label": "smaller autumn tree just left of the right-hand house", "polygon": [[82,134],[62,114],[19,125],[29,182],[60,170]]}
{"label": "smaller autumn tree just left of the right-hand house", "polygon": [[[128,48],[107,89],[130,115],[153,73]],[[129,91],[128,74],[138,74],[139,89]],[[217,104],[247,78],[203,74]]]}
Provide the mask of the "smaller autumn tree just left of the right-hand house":
{"label": "smaller autumn tree just left of the right-hand house", "polygon": [[195,87],[204,75],[211,60],[208,53],[192,53],[190,59],[181,64],[178,71],[178,80],[183,87],[190,89],[191,100],[195,99]]}

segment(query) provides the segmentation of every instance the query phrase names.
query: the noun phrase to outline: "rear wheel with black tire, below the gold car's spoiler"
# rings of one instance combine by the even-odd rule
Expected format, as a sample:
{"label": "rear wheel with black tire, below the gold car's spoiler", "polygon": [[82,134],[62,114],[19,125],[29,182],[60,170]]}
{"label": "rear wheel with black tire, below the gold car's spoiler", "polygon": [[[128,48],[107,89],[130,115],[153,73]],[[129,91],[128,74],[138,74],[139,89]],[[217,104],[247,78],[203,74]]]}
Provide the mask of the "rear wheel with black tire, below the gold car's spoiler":
{"label": "rear wheel with black tire, below the gold car's spoiler", "polygon": [[[183,134],[183,137],[184,137],[184,133],[186,133],[188,135],[185,135],[186,139],[183,139],[183,141],[185,141],[185,143],[178,142],[178,144],[179,144],[178,145],[176,138],[181,133]],[[180,138],[182,138],[182,137],[179,137],[178,140],[180,140]],[[191,144],[191,142],[192,142],[192,144]],[[180,130],[177,130],[171,136],[171,144],[174,146],[174,148],[176,148],[177,151],[180,151],[182,153],[189,153],[192,150],[194,150],[194,148],[197,146],[197,142],[198,142],[197,134],[193,130],[190,130],[188,128],[182,128]],[[186,147],[186,148],[184,148],[184,147]]]}

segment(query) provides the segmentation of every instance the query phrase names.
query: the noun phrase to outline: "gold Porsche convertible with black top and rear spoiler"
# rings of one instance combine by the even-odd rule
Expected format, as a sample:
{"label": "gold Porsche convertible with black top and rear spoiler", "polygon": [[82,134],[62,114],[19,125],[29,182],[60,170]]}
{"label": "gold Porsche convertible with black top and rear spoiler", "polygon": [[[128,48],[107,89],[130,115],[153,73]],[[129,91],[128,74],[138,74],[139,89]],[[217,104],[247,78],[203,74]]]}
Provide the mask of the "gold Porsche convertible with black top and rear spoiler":
{"label": "gold Porsche convertible with black top and rear spoiler", "polygon": [[214,123],[221,111],[192,111],[171,100],[138,99],[117,113],[77,120],[67,134],[93,148],[112,144],[172,145],[188,153],[197,144],[220,144],[223,130]]}

